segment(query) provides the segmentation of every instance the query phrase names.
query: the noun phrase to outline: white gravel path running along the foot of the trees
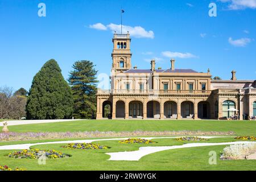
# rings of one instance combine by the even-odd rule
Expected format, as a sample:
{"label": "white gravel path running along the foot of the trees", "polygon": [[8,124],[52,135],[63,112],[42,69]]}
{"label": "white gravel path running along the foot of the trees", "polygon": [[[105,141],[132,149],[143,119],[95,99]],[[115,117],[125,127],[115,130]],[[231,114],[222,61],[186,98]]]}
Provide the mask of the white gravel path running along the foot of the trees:
{"label": "white gravel path running along the foot of the trees", "polygon": [[[40,120],[14,120],[7,121],[7,126],[14,125],[29,125],[29,124],[38,124],[38,123],[55,123],[55,122],[68,122],[68,121],[80,121],[86,119],[40,119]],[[3,123],[6,121],[0,122],[0,126],[3,126]]]}

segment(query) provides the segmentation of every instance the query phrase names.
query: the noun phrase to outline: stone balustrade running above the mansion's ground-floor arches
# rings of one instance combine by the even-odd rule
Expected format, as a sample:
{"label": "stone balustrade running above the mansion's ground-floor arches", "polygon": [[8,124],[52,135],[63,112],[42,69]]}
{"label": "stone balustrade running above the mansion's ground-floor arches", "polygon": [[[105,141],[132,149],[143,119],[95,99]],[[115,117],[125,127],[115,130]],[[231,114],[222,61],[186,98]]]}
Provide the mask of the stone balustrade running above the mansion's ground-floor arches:
{"label": "stone balustrade running above the mansion's ground-floor arches", "polygon": [[98,90],[97,94],[205,94],[209,95],[211,90]]}

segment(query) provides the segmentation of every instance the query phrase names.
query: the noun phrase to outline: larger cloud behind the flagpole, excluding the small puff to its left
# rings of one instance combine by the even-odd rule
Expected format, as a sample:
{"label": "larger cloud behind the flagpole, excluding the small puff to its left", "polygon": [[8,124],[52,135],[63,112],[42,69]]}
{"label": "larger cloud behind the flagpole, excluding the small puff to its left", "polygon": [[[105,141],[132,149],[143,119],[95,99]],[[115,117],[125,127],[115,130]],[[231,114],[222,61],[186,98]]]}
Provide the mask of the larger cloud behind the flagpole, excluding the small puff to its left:
{"label": "larger cloud behind the flagpole, excluding the small puff to its left", "polygon": [[[112,30],[113,32],[116,31],[117,34],[121,34],[121,24],[110,23],[107,27],[110,30]],[[151,38],[151,39],[154,39],[154,32],[151,31],[151,30],[146,31],[141,26],[131,27],[131,26],[123,25],[122,26],[122,32],[126,33],[127,31],[129,31],[130,35],[134,36],[135,38]]]}

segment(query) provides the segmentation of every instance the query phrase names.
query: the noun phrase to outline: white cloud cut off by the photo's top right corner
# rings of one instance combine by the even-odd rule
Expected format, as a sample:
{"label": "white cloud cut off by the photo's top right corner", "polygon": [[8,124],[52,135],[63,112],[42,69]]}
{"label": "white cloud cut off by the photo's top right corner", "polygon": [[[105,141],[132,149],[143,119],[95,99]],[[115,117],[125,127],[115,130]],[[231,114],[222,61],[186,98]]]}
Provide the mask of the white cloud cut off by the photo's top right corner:
{"label": "white cloud cut off by the photo's top right corner", "polygon": [[256,0],[219,0],[223,3],[229,3],[230,10],[242,10],[246,8],[256,9]]}

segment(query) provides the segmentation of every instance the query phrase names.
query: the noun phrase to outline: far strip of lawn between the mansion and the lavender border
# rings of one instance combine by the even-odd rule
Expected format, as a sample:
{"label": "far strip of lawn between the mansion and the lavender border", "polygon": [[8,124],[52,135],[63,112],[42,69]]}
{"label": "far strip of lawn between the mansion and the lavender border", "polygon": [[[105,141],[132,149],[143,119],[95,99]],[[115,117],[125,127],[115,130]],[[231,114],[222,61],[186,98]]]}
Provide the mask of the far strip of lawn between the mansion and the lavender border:
{"label": "far strip of lawn between the mansion and the lavender border", "polygon": [[[256,135],[256,121],[209,120],[85,120],[9,126],[16,132],[51,131],[233,131],[237,135]],[[1,128],[0,128],[1,130]]]}

